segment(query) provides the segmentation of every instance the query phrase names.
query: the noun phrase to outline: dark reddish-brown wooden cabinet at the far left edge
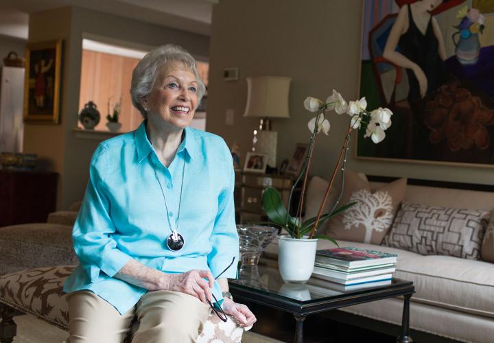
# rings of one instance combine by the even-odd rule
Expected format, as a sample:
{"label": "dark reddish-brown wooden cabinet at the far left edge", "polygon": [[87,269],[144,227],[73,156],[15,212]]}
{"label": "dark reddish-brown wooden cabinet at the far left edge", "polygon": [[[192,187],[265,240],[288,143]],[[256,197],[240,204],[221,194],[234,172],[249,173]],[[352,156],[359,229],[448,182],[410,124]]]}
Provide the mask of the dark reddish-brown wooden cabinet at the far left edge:
{"label": "dark reddish-brown wooden cabinet at the far left edge", "polygon": [[46,222],[56,209],[58,174],[0,170],[0,227]]}

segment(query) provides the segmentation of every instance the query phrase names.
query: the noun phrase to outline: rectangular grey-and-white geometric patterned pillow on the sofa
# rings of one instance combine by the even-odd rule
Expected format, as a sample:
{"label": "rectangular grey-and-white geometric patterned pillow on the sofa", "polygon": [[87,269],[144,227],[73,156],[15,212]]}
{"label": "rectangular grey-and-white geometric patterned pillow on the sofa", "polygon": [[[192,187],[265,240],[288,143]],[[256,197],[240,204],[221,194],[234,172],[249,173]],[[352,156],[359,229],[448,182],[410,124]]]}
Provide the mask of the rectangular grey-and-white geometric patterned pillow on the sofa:
{"label": "rectangular grey-and-white geometric patterned pillow on the sofa", "polygon": [[384,245],[421,255],[478,259],[488,220],[488,211],[403,202]]}

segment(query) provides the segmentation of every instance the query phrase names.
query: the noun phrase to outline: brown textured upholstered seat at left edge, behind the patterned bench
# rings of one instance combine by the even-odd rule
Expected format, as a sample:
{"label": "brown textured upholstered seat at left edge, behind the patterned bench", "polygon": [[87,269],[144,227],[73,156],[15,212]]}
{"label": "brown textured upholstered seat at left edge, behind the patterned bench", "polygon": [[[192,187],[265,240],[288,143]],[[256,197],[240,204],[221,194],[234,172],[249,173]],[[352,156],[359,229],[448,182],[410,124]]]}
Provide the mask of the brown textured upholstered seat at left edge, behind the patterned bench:
{"label": "brown textured upholstered seat at left edge, behind the patterned bench", "polygon": [[30,223],[0,228],[0,275],[19,270],[78,263],[72,227]]}

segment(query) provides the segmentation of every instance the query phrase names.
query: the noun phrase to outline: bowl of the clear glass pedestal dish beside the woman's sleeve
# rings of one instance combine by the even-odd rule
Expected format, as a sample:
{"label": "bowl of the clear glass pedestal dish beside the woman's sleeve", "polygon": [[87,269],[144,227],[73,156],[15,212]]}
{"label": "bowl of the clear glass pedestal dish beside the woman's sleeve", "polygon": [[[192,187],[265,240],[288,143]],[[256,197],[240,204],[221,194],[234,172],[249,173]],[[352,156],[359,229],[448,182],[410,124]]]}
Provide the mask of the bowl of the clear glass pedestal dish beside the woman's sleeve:
{"label": "bowl of the clear glass pedestal dish beside the woman's sleeve", "polygon": [[276,237],[278,228],[263,225],[237,225],[242,265],[257,265],[261,252]]}

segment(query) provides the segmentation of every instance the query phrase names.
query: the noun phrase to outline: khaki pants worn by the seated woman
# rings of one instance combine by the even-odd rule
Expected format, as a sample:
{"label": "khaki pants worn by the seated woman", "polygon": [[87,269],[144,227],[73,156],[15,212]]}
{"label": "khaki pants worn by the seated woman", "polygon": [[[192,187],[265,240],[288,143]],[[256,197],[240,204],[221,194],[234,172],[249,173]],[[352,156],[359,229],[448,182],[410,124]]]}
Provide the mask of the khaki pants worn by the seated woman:
{"label": "khaki pants worn by the seated woman", "polygon": [[124,342],[132,319],[139,329],[132,343],[196,342],[210,307],[189,294],[148,292],[126,314],[89,291],[72,292],[69,303],[69,343]]}

